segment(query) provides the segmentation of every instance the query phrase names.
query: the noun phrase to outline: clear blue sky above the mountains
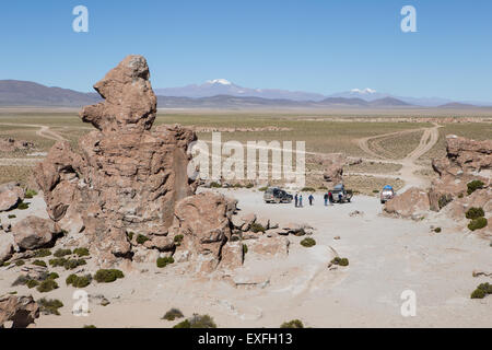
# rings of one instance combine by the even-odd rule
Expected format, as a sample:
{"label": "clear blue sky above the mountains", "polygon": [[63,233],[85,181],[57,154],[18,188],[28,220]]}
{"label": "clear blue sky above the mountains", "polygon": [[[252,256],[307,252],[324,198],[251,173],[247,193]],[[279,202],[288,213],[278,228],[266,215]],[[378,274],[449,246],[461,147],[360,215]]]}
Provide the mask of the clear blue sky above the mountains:
{"label": "clear blue sky above the mountains", "polygon": [[[72,9],[90,32],[72,31]],[[417,8],[418,33],[400,10]],[[492,101],[490,0],[44,0],[0,2],[0,79],[91,91],[129,54],[154,88],[247,88]]]}

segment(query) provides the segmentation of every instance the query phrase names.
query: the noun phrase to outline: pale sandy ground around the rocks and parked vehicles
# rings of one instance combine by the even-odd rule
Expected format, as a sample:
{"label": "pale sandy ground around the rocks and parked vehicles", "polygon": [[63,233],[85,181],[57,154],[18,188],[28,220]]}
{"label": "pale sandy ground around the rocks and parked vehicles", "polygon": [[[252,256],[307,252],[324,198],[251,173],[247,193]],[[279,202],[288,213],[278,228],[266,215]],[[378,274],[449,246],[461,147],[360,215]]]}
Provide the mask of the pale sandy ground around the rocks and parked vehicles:
{"label": "pale sandy ground around the rocks and parked vehicles", "polygon": [[[17,291],[60,299],[60,316],[42,316],[38,327],[171,327],[162,320],[171,307],[186,316],[210,314],[220,327],[278,327],[293,318],[311,327],[492,327],[492,298],[470,300],[481,282],[475,269],[492,271],[489,242],[457,230],[438,218],[414,222],[380,215],[377,198],[355,197],[352,203],[324,207],[266,205],[253,190],[221,190],[239,200],[242,213],[255,212],[280,223],[309,223],[317,245],[304,248],[291,241],[288,258],[253,260],[231,275],[190,277],[174,264],[159,270],[154,264],[126,269],[126,278],[110,284],[93,282],[84,290],[102,294],[110,304],[90,303],[87,316],[74,316],[73,288],[65,285],[68,272],[57,269],[60,289],[39,294],[25,287],[12,288],[20,268],[0,268],[0,294]],[[42,213],[43,200],[32,209]],[[352,218],[350,212],[364,214]],[[30,210],[31,211],[31,210]],[[24,215],[15,212],[17,220]],[[7,220],[2,215],[2,222]],[[430,226],[443,228],[431,233]],[[340,236],[341,240],[333,240]],[[247,243],[247,242],[246,242]],[[349,267],[327,268],[332,249],[350,259]],[[91,265],[86,271],[94,272]],[[244,284],[246,283],[246,284]],[[403,317],[402,291],[417,294],[417,315]]]}

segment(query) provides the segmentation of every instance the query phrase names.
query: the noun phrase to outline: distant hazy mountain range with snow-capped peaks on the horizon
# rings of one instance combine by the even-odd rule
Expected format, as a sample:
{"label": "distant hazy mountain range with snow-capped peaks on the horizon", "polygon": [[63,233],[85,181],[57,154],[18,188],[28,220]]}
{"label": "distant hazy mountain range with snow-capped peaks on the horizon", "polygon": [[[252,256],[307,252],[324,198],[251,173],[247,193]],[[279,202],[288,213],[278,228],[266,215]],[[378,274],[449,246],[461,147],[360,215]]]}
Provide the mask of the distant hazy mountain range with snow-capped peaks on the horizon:
{"label": "distant hazy mountain range with snow-capped peaks on the horizon", "polygon": [[[475,107],[467,102],[437,97],[398,97],[372,89],[354,89],[329,96],[300,91],[248,89],[225,79],[154,91],[160,108]],[[28,81],[0,80],[0,106],[82,107],[101,101],[96,93],[49,88]]]}

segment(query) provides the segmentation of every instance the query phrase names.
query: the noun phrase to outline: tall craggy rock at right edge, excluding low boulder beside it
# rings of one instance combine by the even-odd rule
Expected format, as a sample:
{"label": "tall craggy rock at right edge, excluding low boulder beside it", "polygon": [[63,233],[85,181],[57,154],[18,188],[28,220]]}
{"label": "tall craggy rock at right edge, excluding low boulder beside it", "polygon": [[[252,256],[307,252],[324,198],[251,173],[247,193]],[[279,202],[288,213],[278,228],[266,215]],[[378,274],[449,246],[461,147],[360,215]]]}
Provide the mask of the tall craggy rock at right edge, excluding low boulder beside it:
{"label": "tall craggy rock at right edge, excluding low boulder beside it", "polygon": [[453,200],[467,196],[467,184],[478,179],[490,186],[492,177],[492,140],[475,141],[446,137],[446,158],[433,160],[438,178],[431,185],[431,209],[440,211]]}

